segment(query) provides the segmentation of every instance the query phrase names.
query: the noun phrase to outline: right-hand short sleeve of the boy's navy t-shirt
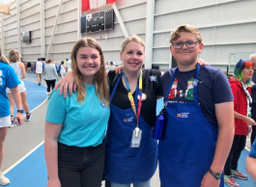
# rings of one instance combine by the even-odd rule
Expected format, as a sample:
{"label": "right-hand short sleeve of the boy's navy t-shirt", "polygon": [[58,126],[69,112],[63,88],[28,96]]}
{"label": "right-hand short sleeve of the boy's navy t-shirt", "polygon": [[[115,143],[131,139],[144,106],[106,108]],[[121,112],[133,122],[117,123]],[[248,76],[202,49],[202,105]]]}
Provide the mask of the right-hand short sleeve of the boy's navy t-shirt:
{"label": "right-hand short sleeve of the boy's navy t-shirt", "polygon": [[228,79],[220,69],[213,73],[212,92],[216,104],[234,100]]}

